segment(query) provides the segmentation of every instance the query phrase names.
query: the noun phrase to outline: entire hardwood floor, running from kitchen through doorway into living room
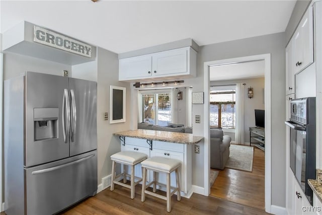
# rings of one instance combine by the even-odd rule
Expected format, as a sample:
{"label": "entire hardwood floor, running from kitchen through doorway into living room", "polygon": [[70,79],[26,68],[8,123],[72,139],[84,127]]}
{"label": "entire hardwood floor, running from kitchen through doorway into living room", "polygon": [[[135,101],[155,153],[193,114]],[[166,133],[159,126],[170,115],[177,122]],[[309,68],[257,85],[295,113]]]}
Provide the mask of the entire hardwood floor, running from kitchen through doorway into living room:
{"label": "entire hardwood floor, running from kitchen through doorway into living room", "polygon": [[[264,208],[263,154],[259,149],[255,149],[253,173],[227,168],[220,171],[211,189],[211,195],[222,193],[219,198],[194,193],[189,199],[182,197],[181,201],[177,201],[177,196],[173,195],[170,214],[269,214],[263,209],[258,209]],[[141,202],[140,184],[136,186],[135,191],[135,198],[131,199],[129,189],[115,185],[113,192],[109,188],[105,189],[61,214],[169,214],[165,200],[146,195],[145,202]],[[165,194],[163,191],[157,192]],[[229,201],[222,199],[225,197],[229,197]],[[240,202],[240,204],[231,201]],[[5,215],[5,212],[0,215]]]}

